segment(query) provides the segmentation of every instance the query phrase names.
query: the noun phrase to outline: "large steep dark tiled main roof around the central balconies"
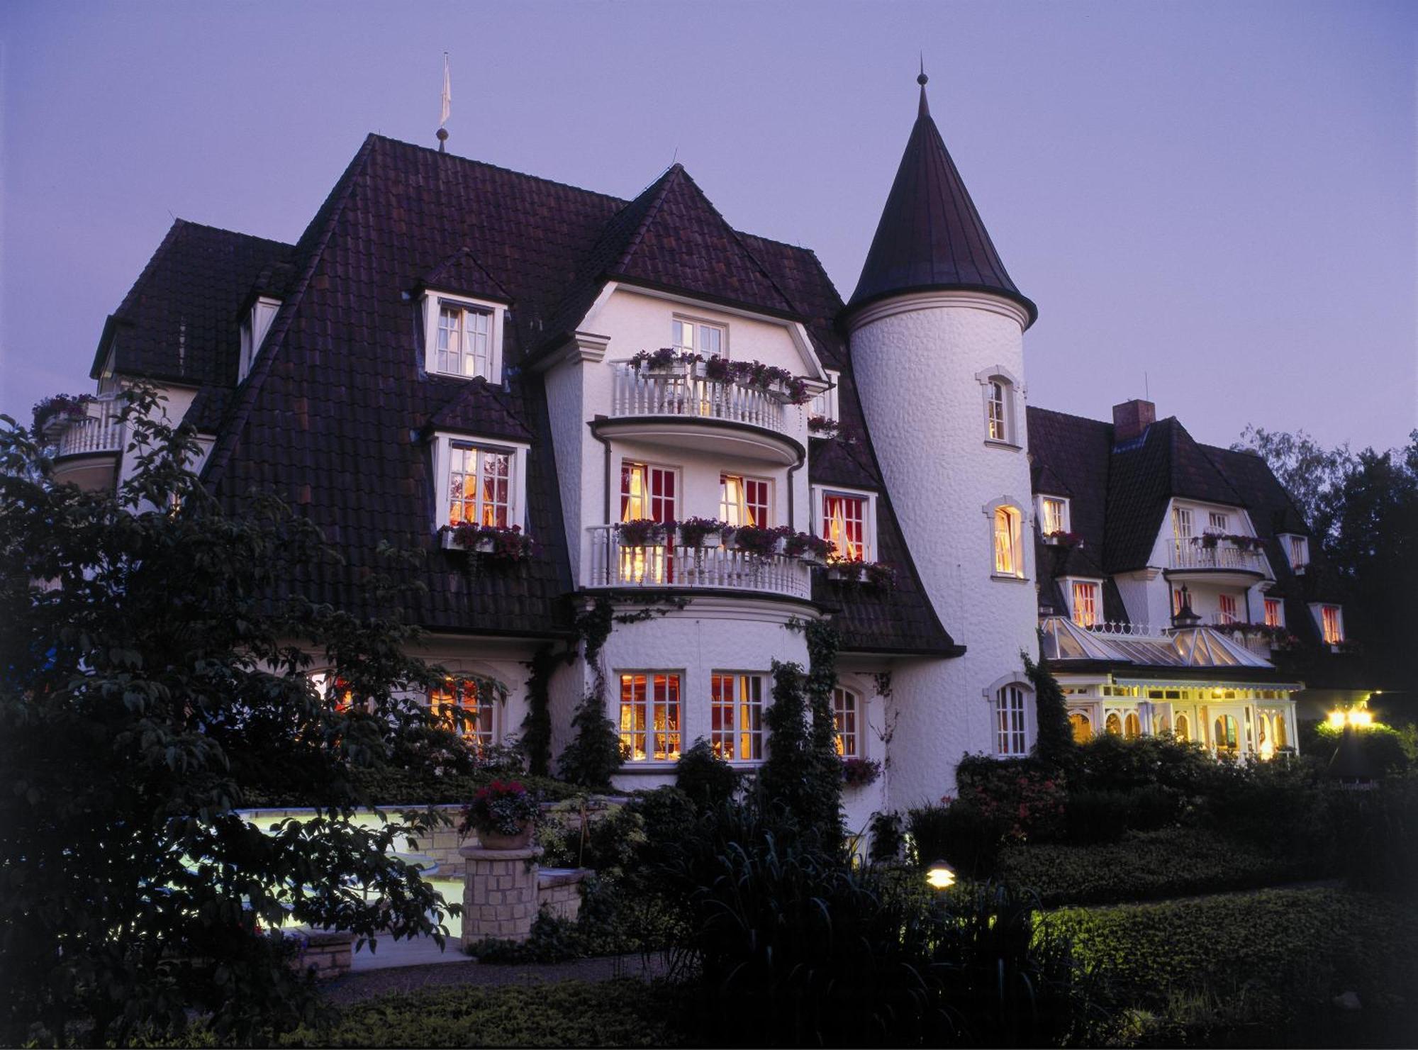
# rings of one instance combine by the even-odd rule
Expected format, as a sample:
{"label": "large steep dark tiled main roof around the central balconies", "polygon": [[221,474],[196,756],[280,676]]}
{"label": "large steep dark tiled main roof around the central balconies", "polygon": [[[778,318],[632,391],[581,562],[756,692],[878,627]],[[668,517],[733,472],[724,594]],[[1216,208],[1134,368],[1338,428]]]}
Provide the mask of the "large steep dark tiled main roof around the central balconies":
{"label": "large steep dark tiled main roof around the central balconies", "polygon": [[[803,316],[824,363],[847,369],[832,328],[841,299],[815,257],[735,233],[678,167],[627,204],[370,136],[289,264],[291,294],[233,399],[207,481],[231,501],[261,487],[301,505],[346,565],[311,566],[294,583],[347,609],[373,612],[362,580],[390,568],[379,563],[381,542],[423,548],[427,569],[404,570],[401,579],[424,593],[411,593],[403,609],[434,629],[545,634],[566,627],[562,596],[571,579],[546,397],[536,373],[519,365],[574,325],[607,278]],[[404,292],[432,285],[440,271],[454,280],[454,270],[468,282],[495,282],[512,304],[506,389],[421,369],[417,299]],[[844,419],[865,433],[847,372]],[[529,532],[543,545],[540,558],[479,573],[468,570],[464,555],[434,548],[427,436],[438,429],[532,444]],[[824,480],[881,490],[865,446],[831,460],[824,457]],[[824,590],[825,603],[841,606],[845,647],[953,651],[889,502],[878,509],[881,555],[900,568],[902,582],[886,596]]]}

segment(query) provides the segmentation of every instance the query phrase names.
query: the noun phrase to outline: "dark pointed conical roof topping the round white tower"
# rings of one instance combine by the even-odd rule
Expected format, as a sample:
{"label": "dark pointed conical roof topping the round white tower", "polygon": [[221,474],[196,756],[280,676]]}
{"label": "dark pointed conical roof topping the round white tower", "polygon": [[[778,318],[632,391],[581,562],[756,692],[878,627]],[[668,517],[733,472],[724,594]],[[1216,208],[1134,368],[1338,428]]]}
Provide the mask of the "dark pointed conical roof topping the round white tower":
{"label": "dark pointed conical roof topping the round white tower", "polygon": [[1032,325],[1038,308],[1010,280],[930,119],[925,70],[916,79],[920,84],[916,125],[847,309],[902,292],[983,291],[1018,302]]}

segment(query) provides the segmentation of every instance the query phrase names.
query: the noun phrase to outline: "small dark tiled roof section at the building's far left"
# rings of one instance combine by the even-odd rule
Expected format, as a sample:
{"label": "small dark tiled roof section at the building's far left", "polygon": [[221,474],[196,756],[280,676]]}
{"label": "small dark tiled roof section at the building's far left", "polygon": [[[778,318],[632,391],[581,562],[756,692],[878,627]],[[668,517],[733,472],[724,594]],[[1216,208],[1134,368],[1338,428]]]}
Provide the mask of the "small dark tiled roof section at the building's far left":
{"label": "small dark tiled roof section at the building's far left", "polygon": [[278,277],[291,250],[281,241],[174,220],[109,318],[91,375],[98,377],[112,345],[116,368],[128,376],[234,385],[238,309],[258,280]]}

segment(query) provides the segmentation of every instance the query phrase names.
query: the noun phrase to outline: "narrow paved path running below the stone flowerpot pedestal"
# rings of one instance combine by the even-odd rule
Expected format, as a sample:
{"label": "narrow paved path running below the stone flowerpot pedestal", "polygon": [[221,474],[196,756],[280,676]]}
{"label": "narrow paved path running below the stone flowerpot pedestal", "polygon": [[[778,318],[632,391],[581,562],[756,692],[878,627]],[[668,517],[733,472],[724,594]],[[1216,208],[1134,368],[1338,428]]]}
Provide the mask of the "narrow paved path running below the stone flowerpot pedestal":
{"label": "narrow paved path running below the stone flowerpot pedestal", "polygon": [[[430,942],[431,944],[431,942]],[[379,956],[393,942],[380,942]],[[431,945],[437,952],[437,946]],[[360,955],[354,956],[356,963]],[[326,986],[326,996],[333,1003],[352,1003],[359,999],[389,995],[391,992],[417,992],[421,988],[442,988],[447,985],[535,985],[549,980],[611,980],[614,978],[638,978],[648,980],[668,971],[664,955],[648,959],[640,955],[608,955],[598,959],[576,959],[556,963],[493,965],[475,962],[462,955],[454,944],[437,962],[414,963],[393,962],[387,966],[354,966],[343,978]]]}

